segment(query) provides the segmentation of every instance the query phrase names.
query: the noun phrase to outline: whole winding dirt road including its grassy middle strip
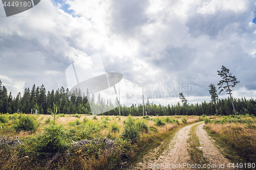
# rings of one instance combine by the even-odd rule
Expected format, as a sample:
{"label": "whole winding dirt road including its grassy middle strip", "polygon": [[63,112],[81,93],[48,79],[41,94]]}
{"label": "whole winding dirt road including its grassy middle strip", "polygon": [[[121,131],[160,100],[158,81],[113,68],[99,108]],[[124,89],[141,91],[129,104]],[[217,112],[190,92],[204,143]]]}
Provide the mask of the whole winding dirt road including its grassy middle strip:
{"label": "whole winding dirt road including its grassy middle strip", "polygon": [[181,128],[172,139],[146,154],[133,169],[234,169],[227,167],[230,160],[221,154],[223,151],[203,126],[200,122]]}

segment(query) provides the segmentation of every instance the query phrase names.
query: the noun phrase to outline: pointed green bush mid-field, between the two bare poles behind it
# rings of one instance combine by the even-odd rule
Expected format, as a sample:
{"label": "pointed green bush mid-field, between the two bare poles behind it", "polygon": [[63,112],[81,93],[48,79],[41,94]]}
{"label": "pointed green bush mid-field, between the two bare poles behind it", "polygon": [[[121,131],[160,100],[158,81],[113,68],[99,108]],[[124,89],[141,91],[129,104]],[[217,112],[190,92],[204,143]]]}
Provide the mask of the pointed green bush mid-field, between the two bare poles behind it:
{"label": "pointed green bush mid-field, between the two bare poles behind it", "polygon": [[124,139],[134,140],[139,137],[139,130],[135,126],[135,119],[129,115],[124,122],[124,131],[122,132]]}

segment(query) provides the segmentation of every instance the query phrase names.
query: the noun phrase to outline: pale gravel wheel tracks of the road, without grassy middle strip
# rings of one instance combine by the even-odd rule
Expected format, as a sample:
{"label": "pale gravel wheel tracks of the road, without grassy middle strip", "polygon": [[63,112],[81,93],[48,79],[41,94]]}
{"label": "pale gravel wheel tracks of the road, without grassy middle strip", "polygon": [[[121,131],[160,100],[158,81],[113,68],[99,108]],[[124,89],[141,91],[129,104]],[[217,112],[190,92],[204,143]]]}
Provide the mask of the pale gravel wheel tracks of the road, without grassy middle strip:
{"label": "pale gravel wheel tracks of the road, without grassy middle strip", "polygon": [[[207,162],[205,164],[198,165],[190,160],[188,138],[193,126],[197,126],[196,135],[202,147],[199,148],[203,151],[202,158]],[[201,122],[181,128],[173,139],[170,140],[160,156],[156,154],[157,150],[159,150],[158,147],[145,155],[143,161],[139,162],[133,169],[200,169],[199,166],[201,166],[201,168],[206,167],[205,169],[227,169],[226,166],[229,160],[224,158],[215,147],[206,131],[203,129],[203,126],[204,124]],[[225,168],[223,168],[223,164]]]}

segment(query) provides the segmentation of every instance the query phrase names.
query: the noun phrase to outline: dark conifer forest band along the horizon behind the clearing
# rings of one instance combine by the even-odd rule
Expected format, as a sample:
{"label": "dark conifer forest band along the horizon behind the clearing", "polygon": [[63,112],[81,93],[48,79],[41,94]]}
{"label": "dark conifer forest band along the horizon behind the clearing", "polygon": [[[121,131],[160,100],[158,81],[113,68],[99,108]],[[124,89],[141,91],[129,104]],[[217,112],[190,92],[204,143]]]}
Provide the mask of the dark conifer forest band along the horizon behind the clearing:
{"label": "dark conifer forest band along the horizon behind the clearing", "polygon": [[[73,94],[72,94],[73,93]],[[16,96],[12,96],[11,91],[2,85],[0,81],[0,113],[15,113],[19,109],[22,113],[37,113],[49,114],[49,110],[53,109],[53,104],[59,108],[59,113],[64,114],[92,114],[89,100],[94,101],[98,109],[105,107],[113,107],[114,109],[102,113],[103,115],[119,115],[119,108],[116,101],[104,101],[100,96],[90,96],[87,94],[79,94],[79,90],[70,92],[69,89],[61,87],[57,90],[47,91],[44,85],[32,86],[32,88],[25,88],[23,95],[20,92]],[[210,98],[210,96],[209,96]],[[256,116],[256,101],[254,99],[239,98],[233,99],[234,106],[239,114],[253,114]],[[217,109],[216,109],[217,108]],[[218,99],[215,104],[213,102],[202,102],[201,104],[187,104],[184,102],[180,104],[168,104],[163,106],[156,105],[147,99],[144,105],[144,110],[147,115],[230,115],[233,113],[233,108],[230,98]],[[133,116],[143,115],[142,104],[132,105],[131,107],[120,106],[121,115]]]}

